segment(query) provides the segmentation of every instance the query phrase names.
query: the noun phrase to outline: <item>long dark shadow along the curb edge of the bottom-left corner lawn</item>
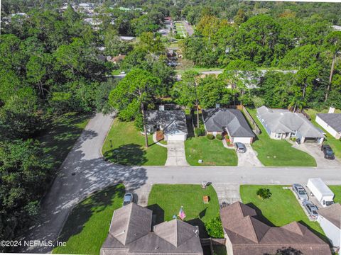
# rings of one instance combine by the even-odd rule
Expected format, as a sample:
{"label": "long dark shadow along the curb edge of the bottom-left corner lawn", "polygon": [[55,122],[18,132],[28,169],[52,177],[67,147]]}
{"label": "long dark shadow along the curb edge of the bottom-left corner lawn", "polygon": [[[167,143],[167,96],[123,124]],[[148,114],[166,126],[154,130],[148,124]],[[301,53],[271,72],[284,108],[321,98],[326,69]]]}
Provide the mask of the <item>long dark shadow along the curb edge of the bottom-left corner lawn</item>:
{"label": "long dark shadow along the curb edge of the bottom-left corner lawn", "polygon": [[90,198],[83,200],[70,213],[58,241],[67,242],[70,237],[80,234],[93,213],[101,212],[107,206],[112,205],[114,198],[123,198],[123,196],[124,186],[118,184],[94,193]]}

